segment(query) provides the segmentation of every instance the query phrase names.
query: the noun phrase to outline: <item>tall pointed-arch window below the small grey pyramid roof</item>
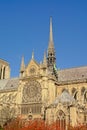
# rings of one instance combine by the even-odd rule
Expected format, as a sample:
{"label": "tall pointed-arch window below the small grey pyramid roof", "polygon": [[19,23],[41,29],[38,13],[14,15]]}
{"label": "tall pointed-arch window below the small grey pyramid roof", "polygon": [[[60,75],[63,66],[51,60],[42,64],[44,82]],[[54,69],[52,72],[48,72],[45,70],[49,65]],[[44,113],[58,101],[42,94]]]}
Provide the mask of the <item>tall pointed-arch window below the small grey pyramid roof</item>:
{"label": "tall pointed-arch window below the small grey pyramid roof", "polygon": [[57,112],[56,128],[58,130],[65,130],[66,126],[66,116],[62,110]]}

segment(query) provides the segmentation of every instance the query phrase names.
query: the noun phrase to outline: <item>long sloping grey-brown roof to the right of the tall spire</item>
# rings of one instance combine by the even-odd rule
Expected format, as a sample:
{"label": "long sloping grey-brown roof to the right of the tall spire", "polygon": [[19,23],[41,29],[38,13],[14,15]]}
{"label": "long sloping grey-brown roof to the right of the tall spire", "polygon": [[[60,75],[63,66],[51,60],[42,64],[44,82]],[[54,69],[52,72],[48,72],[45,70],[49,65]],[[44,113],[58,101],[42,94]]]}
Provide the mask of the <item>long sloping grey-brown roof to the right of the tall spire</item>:
{"label": "long sloping grey-brown roof to the right of the tall spire", "polygon": [[87,66],[58,70],[58,81],[72,81],[87,78]]}

